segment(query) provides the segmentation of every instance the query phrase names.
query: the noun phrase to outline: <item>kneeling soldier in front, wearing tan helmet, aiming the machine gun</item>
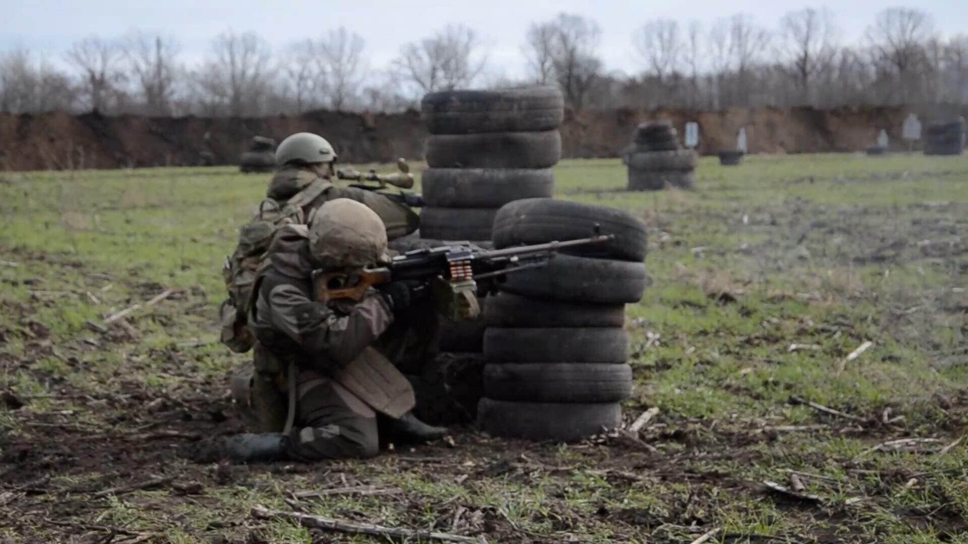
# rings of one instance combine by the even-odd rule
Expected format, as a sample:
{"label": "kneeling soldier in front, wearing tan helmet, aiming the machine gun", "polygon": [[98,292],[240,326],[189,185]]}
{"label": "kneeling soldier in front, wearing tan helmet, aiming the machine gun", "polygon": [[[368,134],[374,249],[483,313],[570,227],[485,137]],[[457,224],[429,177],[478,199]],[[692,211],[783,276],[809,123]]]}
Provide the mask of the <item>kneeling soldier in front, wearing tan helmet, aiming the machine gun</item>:
{"label": "kneeling soldier in front, wearing tan helmet, aiming the machine gun", "polygon": [[379,438],[443,436],[410,413],[414,393],[401,372],[436,349],[426,289],[400,281],[371,287],[359,301],[325,302],[314,292],[314,271],[351,286],[361,269],[389,258],[386,244],[377,213],[348,198],[321,204],[309,225],[276,232],[247,319],[257,343],[244,408],[256,432],[208,442],[198,461],[367,458]]}

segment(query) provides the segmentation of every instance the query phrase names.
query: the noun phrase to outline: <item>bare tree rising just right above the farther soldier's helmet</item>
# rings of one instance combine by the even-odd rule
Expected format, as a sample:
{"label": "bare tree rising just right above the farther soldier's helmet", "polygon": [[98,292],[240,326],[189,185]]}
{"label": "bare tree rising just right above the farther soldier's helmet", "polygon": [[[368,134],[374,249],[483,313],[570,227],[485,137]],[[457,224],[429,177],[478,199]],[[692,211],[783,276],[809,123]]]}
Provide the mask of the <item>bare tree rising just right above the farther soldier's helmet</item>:
{"label": "bare tree rising just right above the farther soldier's helmet", "polygon": [[330,30],[319,43],[319,72],[325,75],[323,92],[329,106],[344,109],[350,100],[358,98],[363,81],[363,39],[345,27]]}

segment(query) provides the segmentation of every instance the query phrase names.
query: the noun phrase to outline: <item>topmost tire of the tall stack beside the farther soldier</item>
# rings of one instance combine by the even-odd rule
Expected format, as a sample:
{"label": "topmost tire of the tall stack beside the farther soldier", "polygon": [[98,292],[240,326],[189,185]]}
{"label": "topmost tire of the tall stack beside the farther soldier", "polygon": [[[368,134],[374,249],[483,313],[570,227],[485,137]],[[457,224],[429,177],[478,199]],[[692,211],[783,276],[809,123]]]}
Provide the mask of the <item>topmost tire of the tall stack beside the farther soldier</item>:
{"label": "topmost tire of the tall stack beside the farther soldier", "polygon": [[564,97],[557,87],[493,91],[440,91],[420,102],[420,119],[432,135],[539,132],[557,129]]}

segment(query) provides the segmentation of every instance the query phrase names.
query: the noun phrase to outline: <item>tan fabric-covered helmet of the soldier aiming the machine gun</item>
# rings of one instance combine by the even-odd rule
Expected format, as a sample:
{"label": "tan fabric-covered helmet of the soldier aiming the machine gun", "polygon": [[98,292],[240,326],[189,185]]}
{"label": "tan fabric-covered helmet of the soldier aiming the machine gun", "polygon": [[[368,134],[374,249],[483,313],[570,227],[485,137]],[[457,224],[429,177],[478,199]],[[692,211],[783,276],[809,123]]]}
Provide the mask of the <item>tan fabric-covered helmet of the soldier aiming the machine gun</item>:
{"label": "tan fabric-covered helmet of the soldier aiming the machine gun", "polygon": [[334,198],[309,218],[309,251],[319,268],[363,268],[389,260],[386,227],[377,212],[349,198]]}

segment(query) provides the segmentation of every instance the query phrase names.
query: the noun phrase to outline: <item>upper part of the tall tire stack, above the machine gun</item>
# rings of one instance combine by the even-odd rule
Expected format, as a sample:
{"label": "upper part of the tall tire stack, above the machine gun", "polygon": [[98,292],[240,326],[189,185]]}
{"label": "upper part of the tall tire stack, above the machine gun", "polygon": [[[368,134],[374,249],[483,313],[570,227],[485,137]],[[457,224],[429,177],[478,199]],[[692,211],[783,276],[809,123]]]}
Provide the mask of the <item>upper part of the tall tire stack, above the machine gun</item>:
{"label": "upper part of the tall tire stack, above the machine gun", "polygon": [[555,87],[431,93],[421,102],[427,138],[420,236],[485,241],[498,208],[552,196],[564,99]]}

